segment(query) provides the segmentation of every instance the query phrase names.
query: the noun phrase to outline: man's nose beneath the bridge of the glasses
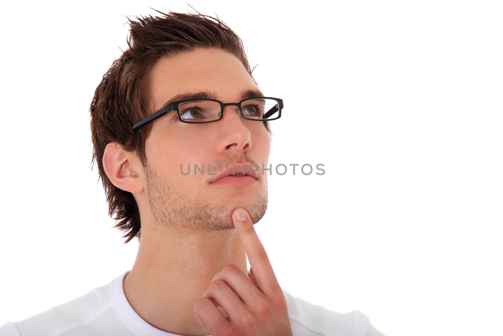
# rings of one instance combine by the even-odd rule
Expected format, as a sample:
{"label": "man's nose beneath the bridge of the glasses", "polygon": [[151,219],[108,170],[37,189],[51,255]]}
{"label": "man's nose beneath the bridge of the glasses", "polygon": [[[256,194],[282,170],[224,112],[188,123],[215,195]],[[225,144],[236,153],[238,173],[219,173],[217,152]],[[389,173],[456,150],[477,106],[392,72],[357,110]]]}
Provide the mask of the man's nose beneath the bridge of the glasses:
{"label": "man's nose beneath the bridge of the glasses", "polygon": [[241,117],[239,107],[225,106],[222,120],[215,123],[219,128],[216,141],[219,155],[241,155],[251,149],[251,134],[243,120],[246,119]]}

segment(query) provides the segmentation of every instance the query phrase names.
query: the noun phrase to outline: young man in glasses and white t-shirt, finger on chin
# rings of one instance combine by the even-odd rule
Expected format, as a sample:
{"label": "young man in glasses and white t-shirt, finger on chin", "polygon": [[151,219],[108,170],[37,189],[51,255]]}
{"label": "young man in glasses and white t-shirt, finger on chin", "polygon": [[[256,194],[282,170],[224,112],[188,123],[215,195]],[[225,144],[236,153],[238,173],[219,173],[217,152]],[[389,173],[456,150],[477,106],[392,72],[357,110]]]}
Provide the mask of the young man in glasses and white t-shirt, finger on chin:
{"label": "young man in glasses and white t-shirt, finger on chin", "polygon": [[110,214],[126,243],[139,239],[132,269],[0,334],[382,335],[359,311],[281,289],[254,224],[283,101],[259,90],[220,20],[161,14],[131,21],[91,104]]}

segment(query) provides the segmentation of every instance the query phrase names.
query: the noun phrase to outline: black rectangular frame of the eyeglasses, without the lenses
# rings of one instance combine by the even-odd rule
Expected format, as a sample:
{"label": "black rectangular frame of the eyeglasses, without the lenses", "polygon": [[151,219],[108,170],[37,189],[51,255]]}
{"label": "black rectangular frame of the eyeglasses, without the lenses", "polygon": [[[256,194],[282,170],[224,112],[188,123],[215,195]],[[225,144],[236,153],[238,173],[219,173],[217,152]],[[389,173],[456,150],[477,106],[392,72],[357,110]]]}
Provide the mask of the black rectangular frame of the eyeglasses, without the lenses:
{"label": "black rectangular frame of the eyeglasses, without the lenses", "polygon": [[[276,111],[278,112],[278,116],[275,117],[275,118],[271,118],[271,119],[254,119],[254,118],[247,118],[244,116],[243,114],[243,111],[241,110],[241,103],[246,101],[246,100],[254,100],[254,99],[274,99],[278,102],[277,105],[275,105],[272,109],[270,109],[269,111],[267,111],[264,116],[268,116],[268,114],[272,114],[272,113],[275,113]],[[186,102],[190,102],[190,101],[202,101],[202,100],[209,100],[209,101],[214,101],[214,102],[217,102],[220,104],[220,117],[218,119],[215,119],[215,120],[211,120],[211,121],[200,121],[200,122],[197,122],[197,121],[186,121],[186,120],[182,120],[182,117],[180,116],[180,111],[178,110],[178,106],[179,104],[181,103],[186,103]],[[225,106],[228,106],[228,105],[234,105],[234,106],[237,106],[237,108],[239,108],[239,113],[240,115],[245,118],[246,120],[255,120],[255,121],[262,121],[262,122],[266,122],[266,121],[269,121],[269,120],[276,120],[276,119],[279,119],[281,117],[281,110],[283,109],[284,105],[283,105],[283,99],[280,99],[280,98],[274,98],[274,97],[253,97],[253,98],[246,98],[246,99],[243,99],[241,101],[239,101],[238,103],[222,103],[221,101],[219,100],[215,100],[215,99],[186,99],[186,100],[180,100],[180,101],[177,101],[177,102],[173,102],[171,104],[167,104],[163,107],[161,107],[160,109],[158,109],[157,111],[155,111],[154,113],[148,115],[147,117],[143,118],[142,120],[138,121],[137,123],[135,123],[133,125],[133,130],[136,130],[144,125],[146,125],[147,123],[149,123],[150,121],[153,121],[157,118],[160,118],[161,116],[163,116],[164,114],[167,114],[171,111],[176,111],[177,112],[177,115],[178,115],[178,119],[182,122],[186,122],[186,123],[208,123],[208,122],[215,122],[215,121],[218,121],[220,119],[223,118],[223,113],[224,113],[224,107]],[[276,106],[279,106],[279,109],[275,109]],[[270,115],[269,114],[269,115]]]}

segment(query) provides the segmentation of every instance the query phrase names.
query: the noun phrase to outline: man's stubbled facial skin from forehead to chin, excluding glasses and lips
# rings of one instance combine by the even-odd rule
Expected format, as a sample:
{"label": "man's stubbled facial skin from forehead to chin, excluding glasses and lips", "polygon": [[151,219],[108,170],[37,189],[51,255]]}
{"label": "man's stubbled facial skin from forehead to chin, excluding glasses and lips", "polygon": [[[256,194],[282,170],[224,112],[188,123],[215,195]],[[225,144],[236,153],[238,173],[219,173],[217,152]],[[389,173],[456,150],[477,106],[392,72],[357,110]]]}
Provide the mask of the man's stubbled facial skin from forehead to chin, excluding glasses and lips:
{"label": "man's stubbled facial skin from forehead to chin, excluding glasses and lips", "polygon": [[[151,112],[185,92],[213,91],[222,103],[237,103],[243,90],[258,90],[237,57],[202,48],[161,58],[154,65],[150,85]],[[231,229],[232,211],[238,207],[248,211],[254,224],[264,216],[267,174],[262,173],[262,165],[268,167],[271,138],[263,122],[246,120],[236,109],[226,106],[223,118],[211,123],[183,123],[175,111],[153,121],[145,147],[145,191],[157,225]],[[257,180],[247,185],[212,183],[225,173],[226,164],[232,172],[233,163],[238,168],[241,163],[257,164]],[[199,170],[194,173],[195,164],[204,165],[204,175]],[[216,175],[209,175],[208,164]],[[181,173],[181,165],[184,173],[190,166],[188,175]]]}

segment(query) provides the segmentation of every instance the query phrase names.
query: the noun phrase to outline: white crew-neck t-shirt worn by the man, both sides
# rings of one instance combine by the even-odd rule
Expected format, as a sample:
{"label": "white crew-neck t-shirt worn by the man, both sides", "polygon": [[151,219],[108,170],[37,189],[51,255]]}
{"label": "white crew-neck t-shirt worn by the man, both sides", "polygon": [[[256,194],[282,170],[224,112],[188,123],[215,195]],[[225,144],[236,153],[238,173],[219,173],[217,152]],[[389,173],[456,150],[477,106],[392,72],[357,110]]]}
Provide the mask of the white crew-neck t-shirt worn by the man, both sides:
{"label": "white crew-neck t-shirt worn by the man, both sides", "polygon": [[[42,313],[6,322],[0,336],[180,336],[155,328],[133,310],[123,288],[129,272]],[[384,336],[358,310],[341,314],[283,293],[294,336]]]}

